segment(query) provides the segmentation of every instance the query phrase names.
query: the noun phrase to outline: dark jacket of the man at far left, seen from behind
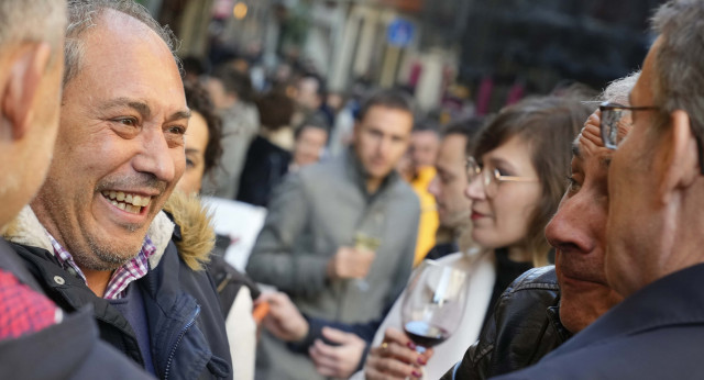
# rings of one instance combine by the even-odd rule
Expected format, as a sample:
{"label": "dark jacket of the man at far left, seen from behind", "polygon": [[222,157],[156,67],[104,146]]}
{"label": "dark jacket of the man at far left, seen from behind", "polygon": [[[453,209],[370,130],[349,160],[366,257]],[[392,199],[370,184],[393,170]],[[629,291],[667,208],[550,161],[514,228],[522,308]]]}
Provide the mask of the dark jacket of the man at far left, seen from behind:
{"label": "dark jacket of the man at far left, seen from behind", "polygon": [[[41,293],[24,261],[0,238],[0,268]],[[43,358],[37,366],[37,358]],[[99,339],[92,309],[64,313],[61,323],[0,342],[0,379],[152,379]]]}

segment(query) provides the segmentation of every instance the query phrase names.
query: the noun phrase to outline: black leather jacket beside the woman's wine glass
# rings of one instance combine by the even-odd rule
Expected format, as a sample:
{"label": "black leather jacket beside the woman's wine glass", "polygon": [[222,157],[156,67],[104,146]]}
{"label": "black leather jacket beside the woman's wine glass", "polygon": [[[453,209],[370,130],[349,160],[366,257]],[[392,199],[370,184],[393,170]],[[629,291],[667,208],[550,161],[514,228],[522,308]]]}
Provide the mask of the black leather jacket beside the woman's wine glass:
{"label": "black leather jacket beside the woman's wine glass", "polygon": [[479,340],[442,379],[487,379],[538,362],[570,337],[559,302],[554,267],[528,270],[504,291]]}

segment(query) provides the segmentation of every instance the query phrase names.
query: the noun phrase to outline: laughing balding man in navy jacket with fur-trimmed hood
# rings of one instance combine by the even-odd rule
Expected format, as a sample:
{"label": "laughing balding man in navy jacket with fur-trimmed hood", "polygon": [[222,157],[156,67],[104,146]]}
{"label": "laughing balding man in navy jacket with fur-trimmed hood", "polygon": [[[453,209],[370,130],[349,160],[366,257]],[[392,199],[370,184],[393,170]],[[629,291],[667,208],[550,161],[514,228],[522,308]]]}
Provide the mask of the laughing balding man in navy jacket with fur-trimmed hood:
{"label": "laughing balding man in navy jacket with fur-trimmed hood", "polygon": [[101,338],[148,372],[230,377],[201,270],[212,234],[206,226],[194,242],[162,212],[184,172],[190,115],[172,34],[131,0],[70,1],[68,14],[54,159],[7,237],[54,302],[92,304]]}

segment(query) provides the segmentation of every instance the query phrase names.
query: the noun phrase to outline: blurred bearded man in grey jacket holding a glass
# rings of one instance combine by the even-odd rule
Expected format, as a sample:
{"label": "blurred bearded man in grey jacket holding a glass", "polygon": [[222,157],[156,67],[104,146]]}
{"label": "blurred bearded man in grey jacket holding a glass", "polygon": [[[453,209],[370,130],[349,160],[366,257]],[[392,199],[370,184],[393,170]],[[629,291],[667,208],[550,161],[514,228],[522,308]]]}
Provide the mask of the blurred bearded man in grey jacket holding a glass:
{"label": "blurred bearded man in grey jacket holding a glass", "polygon": [[[272,297],[290,297],[307,315],[341,323],[378,318],[394,302],[411,271],[420,213],[394,170],[413,124],[408,96],[376,92],[363,103],[344,155],[301,168],[274,190],[246,267],[255,281],[285,293]],[[270,304],[276,311],[276,299]],[[255,376],[323,378],[309,357],[268,332]]]}

